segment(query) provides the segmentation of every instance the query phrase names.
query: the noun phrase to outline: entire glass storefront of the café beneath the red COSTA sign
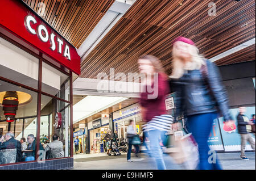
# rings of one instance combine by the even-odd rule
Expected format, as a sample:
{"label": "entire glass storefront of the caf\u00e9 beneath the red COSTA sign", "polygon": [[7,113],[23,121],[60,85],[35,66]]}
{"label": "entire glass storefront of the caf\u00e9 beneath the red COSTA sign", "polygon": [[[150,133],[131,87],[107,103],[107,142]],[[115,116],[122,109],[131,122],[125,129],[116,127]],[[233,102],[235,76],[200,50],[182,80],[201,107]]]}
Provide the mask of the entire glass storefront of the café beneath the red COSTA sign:
{"label": "entire glass storefront of the caf\u00e9 beneath the red COSTA sign", "polygon": [[[63,143],[63,157],[71,156],[70,80],[65,69],[0,37],[0,137],[5,136],[1,141],[9,144],[14,136],[22,144],[22,158],[0,159],[0,165],[33,161],[42,152],[42,159],[48,159],[45,149],[53,135]],[[6,149],[5,144],[1,144],[1,158],[9,154],[18,158],[20,150]]]}

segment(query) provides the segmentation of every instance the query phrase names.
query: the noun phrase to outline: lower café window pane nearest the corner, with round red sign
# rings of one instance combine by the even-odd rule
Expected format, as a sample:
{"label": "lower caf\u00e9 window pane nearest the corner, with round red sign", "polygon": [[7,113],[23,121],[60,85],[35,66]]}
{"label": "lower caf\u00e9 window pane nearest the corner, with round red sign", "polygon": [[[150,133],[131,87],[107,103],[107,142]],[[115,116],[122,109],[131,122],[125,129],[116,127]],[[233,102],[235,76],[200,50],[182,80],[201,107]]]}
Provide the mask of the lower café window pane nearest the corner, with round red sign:
{"label": "lower caf\u00e9 window pane nearest the corner, with round red sign", "polygon": [[[42,95],[41,104],[41,117],[40,117],[40,144],[45,149],[48,144],[53,143],[53,136],[58,136],[59,141],[63,144],[63,153],[55,152],[51,153],[51,150],[46,151],[46,158],[59,158],[69,157],[70,155],[70,113],[69,104],[51,98],[46,95]],[[60,144],[59,142],[59,144]],[[52,146],[58,143],[53,143]],[[61,148],[59,148],[61,151]],[[58,151],[58,150],[57,150]]]}

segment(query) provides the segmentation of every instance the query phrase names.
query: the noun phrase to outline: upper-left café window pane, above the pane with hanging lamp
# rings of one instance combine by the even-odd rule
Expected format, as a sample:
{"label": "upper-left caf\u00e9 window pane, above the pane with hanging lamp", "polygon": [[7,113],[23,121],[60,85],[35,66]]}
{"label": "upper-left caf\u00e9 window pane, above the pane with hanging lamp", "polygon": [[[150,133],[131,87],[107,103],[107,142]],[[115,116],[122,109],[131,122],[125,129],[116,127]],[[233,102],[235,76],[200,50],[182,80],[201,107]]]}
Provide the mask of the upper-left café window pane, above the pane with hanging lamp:
{"label": "upper-left caf\u00e9 window pane, above the pane with hanging lamp", "polygon": [[38,58],[0,37],[0,77],[38,89]]}

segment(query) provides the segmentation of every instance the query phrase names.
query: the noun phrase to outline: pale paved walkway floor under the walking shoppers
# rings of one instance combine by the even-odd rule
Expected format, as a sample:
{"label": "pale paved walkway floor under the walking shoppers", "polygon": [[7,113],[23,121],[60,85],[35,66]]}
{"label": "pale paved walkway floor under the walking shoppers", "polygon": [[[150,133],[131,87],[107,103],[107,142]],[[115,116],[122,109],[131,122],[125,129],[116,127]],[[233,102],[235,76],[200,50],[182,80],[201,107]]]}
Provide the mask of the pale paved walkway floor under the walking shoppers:
{"label": "pale paved walkway floor under the walking shoppers", "polygon": [[[240,153],[218,153],[218,158],[224,170],[255,170],[255,152],[246,152],[249,161],[242,161],[240,159]],[[119,157],[91,157],[74,159],[74,169],[76,170],[150,170],[156,169],[152,158],[148,158],[145,155],[143,161],[127,162],[126,154]],[[133,157],[133,156],[132,156]],[[172,162],[172,158],[168,155],[164,156],[164,159],[169,164],[167,169],[179,170],[183,167],[175,165]]]}

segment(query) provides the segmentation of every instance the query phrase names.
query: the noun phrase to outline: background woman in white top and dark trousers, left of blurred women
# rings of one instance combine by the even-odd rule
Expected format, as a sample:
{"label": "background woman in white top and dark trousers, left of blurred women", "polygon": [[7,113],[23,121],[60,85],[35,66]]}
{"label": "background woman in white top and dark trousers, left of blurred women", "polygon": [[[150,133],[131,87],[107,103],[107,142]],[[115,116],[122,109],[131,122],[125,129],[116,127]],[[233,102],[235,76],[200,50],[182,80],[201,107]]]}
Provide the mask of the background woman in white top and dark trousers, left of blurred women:
{"label": "background woman in white top and dark trousers, left of blurred women", "polygon": [[[127,138],[128,138],[128,152],[127,152],[127,162],[132,162],[131,160],[131,146],[133,138],[137,136],[137,132],[135,131],[135,122],[134,120],[129,121],[129,126],[127,127]],[[135,145],[135,155],[137,158],[139,158],[139,146]]]}

